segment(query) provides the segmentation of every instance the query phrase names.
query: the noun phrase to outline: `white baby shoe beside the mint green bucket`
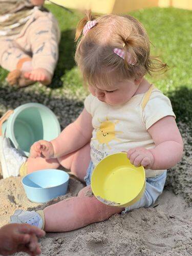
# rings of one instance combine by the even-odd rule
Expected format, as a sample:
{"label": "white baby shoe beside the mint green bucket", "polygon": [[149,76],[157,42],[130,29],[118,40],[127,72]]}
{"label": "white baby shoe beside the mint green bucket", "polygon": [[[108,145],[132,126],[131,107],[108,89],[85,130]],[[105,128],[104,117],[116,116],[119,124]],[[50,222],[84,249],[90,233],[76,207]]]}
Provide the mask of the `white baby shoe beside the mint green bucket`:
{"label": "white baby shoe beside the mint green bucket", "polygon": [[8,138],[3,135],[0,136],[0,162],[4,179],[18,176],[19,169],[26,160],[27,157],[11,146]]}

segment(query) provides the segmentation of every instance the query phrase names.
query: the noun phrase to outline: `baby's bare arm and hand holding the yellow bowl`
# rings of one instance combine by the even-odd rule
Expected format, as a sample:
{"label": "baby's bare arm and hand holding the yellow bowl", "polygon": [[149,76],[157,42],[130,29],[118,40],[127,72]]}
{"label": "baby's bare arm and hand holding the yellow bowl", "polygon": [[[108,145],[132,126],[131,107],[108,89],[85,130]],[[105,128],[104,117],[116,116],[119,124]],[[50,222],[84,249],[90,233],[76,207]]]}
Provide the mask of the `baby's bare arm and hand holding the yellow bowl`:
{"label": "baby's bare arm and hand holding the yellow bowl", "polygon": [[155,148],[133,148],[127,157],[135,166],[145,169],[163,170],[176,165],[182,157],[183,141],[173,116],[165,116],[148,130],[155,143]]}

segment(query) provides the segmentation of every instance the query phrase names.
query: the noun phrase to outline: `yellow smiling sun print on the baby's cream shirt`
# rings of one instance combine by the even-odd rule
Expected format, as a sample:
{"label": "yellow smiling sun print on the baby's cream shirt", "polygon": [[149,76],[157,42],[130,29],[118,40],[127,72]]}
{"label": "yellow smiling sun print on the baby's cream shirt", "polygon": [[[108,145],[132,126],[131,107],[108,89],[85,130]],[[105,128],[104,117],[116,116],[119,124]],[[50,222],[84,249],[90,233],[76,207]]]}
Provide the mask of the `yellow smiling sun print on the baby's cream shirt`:
{"label": "yellow smiling sun print on the baby's cream shirt", "polygon": [[92,140],[97,140],[99,144],[106,144],[106,146],[111,149],[109,142],[115,140],[115,141],[120,141],[117,139],[115,136],[117,133],[123,133],[122,131],[115,131],[115,125],[119,123],[119,120],[115,121],[114,123],[106,117],[106,121],[101,122],[98,119],[98,122],[100,123],[99,127],[97,128],[96,131],[96,137],[92,138]]}

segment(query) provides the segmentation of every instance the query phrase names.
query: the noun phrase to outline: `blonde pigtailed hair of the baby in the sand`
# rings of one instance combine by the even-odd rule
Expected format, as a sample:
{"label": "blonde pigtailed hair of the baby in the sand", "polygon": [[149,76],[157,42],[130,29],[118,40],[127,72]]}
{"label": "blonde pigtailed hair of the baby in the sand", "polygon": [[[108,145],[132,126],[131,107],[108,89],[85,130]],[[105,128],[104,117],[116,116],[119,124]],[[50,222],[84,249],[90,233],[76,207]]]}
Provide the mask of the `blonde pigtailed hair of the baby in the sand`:
{"label": "blonde pigtailed hair of the baby in the sand", "polygon": [[[103,15],[96,18],[97,24],[86,35],[82,30],[88,21],[93,21],[91,11],[78,23],[75,41],[77,49],[75,61],[83,79],[89,85],[108,85],[112,82],[111,72],[118,81],[140,78],[146,73],[166,69],[156,57],[150,56],[150,41],[142,24],[130,15]],[[114,48],[128,51],[131,65],[114,53]]]}

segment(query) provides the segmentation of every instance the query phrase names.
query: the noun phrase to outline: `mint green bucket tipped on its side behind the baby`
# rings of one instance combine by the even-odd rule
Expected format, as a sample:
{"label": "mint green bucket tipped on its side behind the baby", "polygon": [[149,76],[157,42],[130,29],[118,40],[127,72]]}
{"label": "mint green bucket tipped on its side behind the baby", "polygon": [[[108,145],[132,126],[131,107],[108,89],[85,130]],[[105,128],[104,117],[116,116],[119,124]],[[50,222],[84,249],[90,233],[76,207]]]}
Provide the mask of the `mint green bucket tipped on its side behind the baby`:
{"label": "mint green bucket tipped on its side behind the baby", "polygon": [[33,143],[55,139],[60,133],[60,125],[48,107],[38,103],[27,103],[14,110],[3,123],[2,131],[16,149],[29,156]]}

